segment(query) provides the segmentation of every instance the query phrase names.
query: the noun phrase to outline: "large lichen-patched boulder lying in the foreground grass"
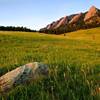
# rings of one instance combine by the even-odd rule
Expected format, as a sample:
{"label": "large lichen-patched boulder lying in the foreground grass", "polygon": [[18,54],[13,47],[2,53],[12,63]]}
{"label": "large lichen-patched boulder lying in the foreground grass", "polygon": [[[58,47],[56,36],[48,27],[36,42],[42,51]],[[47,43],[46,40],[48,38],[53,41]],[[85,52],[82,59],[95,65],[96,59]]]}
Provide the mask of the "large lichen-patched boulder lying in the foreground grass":
{"label": "large lichen-patched boulder lying in the foreground grass", "polygon": [[40,75],[47,75],[45,64],[34,62],[20,66],[0,77],[0,92],[7,91],[16,85],[36,80]]}

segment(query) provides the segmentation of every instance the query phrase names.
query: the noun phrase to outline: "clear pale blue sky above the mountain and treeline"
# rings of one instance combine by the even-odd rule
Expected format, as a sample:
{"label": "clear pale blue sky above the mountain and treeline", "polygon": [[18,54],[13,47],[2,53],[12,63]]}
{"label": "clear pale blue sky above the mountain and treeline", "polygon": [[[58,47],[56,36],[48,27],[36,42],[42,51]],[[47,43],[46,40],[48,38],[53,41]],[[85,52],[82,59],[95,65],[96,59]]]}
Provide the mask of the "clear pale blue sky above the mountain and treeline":
{"label": "clear pale blue sky above the mountain and treeline", "polygon": [[92,5],[100,8],[100,0],[0,0],[0,25],[40,29]]}

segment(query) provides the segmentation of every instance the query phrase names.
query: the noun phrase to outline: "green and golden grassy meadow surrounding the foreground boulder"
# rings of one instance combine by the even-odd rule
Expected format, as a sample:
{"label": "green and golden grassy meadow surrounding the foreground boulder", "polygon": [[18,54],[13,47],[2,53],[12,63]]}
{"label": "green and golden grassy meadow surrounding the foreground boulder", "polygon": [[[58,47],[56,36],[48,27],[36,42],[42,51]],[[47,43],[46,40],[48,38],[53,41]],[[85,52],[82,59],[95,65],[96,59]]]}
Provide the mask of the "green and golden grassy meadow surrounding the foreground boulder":
{"label": "green and golden grassy meadow surrounding the foreground boulder", "polygon": [[100,100],[100,28],[66,36],[0,32],[0,76],[36,61],[48,64],[49,76],[1,100]]}

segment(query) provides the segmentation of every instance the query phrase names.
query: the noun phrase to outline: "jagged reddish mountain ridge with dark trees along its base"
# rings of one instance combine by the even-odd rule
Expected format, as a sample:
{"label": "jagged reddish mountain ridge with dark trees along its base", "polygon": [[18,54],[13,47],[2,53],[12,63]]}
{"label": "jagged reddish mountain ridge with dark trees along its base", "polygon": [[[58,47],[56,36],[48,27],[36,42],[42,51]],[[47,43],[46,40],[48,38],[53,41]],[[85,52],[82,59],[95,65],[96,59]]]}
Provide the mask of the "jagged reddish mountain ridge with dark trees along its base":
{"label": "jagged reddish mountain ridge with dark trees along its base", "polygon": [[100,26],[100,10],[92,6],[85,13],[73,14],[62,17],[46,27],[40,29],[40,32],[61,34],[78,29],[86,29]]}

